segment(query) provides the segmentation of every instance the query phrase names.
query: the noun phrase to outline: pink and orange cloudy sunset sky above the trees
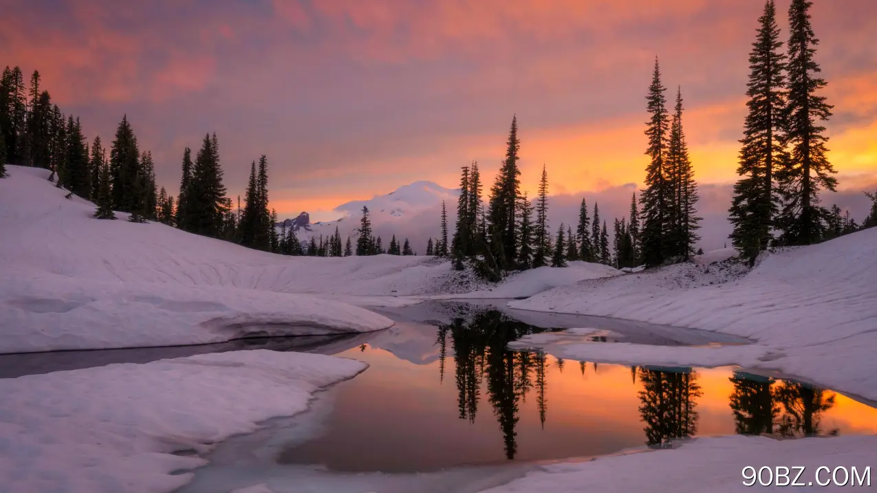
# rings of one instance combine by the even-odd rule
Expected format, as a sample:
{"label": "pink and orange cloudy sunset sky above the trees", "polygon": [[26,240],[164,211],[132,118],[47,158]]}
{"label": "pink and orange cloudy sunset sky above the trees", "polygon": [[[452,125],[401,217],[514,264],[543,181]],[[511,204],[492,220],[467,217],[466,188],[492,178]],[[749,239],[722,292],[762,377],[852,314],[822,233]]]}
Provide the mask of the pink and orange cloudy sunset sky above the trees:
{"label": "pink and orange cloudy sunset sky above the trees", "polygon": [[[788,4],[777,2],[783,39]],[[553,194],[619,190],[624,202],[645,175],[655,56],[668,99],[681,86],[697,179],[730,189],[763,6],[0,0],[0,65],[39,69],[89,139],[110,140],[127,114],[173,195],[183,148],[205,132],[217,132],[231,196],[267,154],[281,218],[336,218],[339,204],[417,180],[455,187],[471,161],[492,182],[517,115],[524,190],[535,193],[545,164]],[[877,189],[877,2],[815,0],[812,15],[823,95],[835,105],[829,157],[840,189],[859,196]],[[727,194],[705,195],[703,210],[724,214]]]}

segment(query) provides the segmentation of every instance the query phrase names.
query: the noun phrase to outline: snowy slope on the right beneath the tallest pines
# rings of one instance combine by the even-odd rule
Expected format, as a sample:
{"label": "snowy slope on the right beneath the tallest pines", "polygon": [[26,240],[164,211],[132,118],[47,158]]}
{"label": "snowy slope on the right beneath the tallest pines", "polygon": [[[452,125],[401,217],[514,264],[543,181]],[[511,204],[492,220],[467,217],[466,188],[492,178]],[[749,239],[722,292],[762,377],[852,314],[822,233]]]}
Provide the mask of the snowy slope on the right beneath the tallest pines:
{"label": "snowy slope on the right beneath the tallest pines", "polygon": [[877,228],[766,255],[742,277],[735,265],[579,282],[509,306],[728,332],[766,348],[761,368],[877,400]]}

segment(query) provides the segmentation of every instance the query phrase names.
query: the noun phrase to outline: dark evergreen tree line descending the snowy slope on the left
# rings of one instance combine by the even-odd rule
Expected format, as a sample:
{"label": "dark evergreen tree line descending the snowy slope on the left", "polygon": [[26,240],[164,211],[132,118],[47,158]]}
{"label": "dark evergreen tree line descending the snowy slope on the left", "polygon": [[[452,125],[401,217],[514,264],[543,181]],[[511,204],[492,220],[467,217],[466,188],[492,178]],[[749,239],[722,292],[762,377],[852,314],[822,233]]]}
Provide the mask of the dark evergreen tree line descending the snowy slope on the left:
{"label": "dark evergreen tree line descending the snowy slope on the left", "polygon": [[[276,212],[268,209],[267,156],[258,166],[253,161],[241,208],[226,196],[219,142],[215,132],[204,135],[201,148],[192,159],[186,147],[182,155],[182,178],[176,198],[164,187],[157,189],[152,153],[141,151],[127,115],[118,124],[109,148],[100,136],[89,144],[79,118],[65,115],[52,103],[48,91],[40,88],[39,71],[34,71],[30,89],[25,89],[21,68],[5,68],[0,78],[0,177],[7,162],[46,168],[49,180],[69,196],[80,196],[96,204],[95,218],[115,219],[116,211],[127,212],[129,220],[158,221],[211,238],[225,239],[244,247],[276,254],[349,256],[350,237],[342,245],[335,233],[317,242],[312,237],[303,245],[292,228],[276,228]],[[109,152],[109,155],[107,154]],[[408,239],[403,244],[390,240],[389,250],[381,238],[370,238],[368,247],[357,254],[415,254]],[[362,240],[360,239],[360,243]]]}

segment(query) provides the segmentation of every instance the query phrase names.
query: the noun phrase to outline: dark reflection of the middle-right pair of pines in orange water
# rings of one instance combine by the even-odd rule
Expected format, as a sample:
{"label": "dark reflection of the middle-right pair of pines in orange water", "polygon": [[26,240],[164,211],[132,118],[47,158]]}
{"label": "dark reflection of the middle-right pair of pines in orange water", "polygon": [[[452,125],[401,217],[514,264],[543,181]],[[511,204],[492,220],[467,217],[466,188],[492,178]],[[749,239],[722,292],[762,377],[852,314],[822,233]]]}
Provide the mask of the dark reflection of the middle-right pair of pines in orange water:
{"label": "dark reflection of the middle-right pair of pines in orange water", "polygon": [[639,413],[645,422],[645,438],[650,446],[697,432],[695,399],[701,387],[691,368],[640,368]]}

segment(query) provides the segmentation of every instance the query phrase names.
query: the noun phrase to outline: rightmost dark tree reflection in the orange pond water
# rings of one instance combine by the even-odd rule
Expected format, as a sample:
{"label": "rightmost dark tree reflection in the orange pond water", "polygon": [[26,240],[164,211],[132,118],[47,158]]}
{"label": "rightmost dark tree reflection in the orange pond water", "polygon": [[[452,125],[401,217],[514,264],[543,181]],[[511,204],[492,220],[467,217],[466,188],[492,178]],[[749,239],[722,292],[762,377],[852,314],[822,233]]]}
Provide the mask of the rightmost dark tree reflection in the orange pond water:
{"label": "rightmost dark tree reflection in the orange pond water", "polygon": [[821,432],[822,413],[834,406],[834,392],[806,383],[777,382],[773,378],[741,372],[731,377],[731,383],[734,390],[730,405],[740,434],[817,435]]}

